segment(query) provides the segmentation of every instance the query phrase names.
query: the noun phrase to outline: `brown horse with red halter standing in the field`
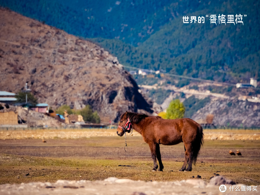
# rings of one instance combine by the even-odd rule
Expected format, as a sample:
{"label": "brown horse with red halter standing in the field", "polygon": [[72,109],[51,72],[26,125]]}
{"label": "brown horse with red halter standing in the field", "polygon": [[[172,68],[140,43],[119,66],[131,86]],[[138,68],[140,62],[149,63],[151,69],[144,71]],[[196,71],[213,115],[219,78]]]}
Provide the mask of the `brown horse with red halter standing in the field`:
{"label": "brown horse with red halter standing in the field", "polygon": [[[148,116],[133,112],[125,112],[120,116],[120,123],[117,128],[117,134],[123,136],[124,133],[130,133],[131,128],[139,132],[144,141],[149,145],[153,159],[153,171],[158,168],[156,158],[159,162],[158,171],[162,171],[164,166],[161,161],[159,144],[175,145],[184,143],[185,161],[179,171],[191,171],[192,162],[195,165],[203,145],[203,129],[195,121],[185,119],[166,120],[160,116]],[[186,169],[186,165],[188,165]]]}

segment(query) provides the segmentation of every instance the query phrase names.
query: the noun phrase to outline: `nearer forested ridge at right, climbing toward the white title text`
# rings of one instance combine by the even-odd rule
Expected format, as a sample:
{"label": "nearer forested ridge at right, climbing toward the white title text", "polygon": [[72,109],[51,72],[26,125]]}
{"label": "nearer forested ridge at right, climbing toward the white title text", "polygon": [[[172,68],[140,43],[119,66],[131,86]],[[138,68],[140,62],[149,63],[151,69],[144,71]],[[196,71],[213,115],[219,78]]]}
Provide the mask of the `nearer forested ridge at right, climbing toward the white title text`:
{"label": "nearer forested ridge at right, climbing toward the white title text", "polygon": [[[259,2],[231,1],[203,10],[187,13],[186,16],[206,14],[243,15],[242,23],[210,24],[205,17],[204,24],[184,24],[182,17],[162,25],[138,47],[125,42],[94,39],[116,55],[122,64],[136,68],[166,70],[166,72],[219,82],[246,82],[250,77],[259,80],[259,23],[251,17],[259,18]],[[212,8],[212,9],[209,9]]]}

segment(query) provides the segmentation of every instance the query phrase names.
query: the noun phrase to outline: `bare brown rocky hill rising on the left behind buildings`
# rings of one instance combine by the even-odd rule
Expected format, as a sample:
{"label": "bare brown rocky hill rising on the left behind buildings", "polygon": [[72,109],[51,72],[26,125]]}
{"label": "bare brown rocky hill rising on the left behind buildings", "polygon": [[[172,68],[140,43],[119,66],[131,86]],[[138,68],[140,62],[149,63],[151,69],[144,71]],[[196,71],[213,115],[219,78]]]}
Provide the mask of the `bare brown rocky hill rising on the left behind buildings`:
{"label": "bare brown rocky hill rising on the left behind buildings", "polygon": [[131,75],[96,44],[6,9],[0,26],[0,90],[17,93],[28,82],[39,103],[89,104],[102,122],[126,110],[152,112]]}

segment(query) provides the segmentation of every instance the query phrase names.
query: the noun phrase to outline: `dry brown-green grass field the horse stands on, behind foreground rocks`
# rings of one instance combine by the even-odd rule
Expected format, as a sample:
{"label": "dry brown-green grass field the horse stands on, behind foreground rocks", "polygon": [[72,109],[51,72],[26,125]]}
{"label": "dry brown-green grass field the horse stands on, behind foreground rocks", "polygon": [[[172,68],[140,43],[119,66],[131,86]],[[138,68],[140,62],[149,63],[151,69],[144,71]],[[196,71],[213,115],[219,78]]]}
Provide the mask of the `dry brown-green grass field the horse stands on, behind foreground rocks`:
{"label": "dry brown-green grass field the horse stands on, behind foreground rocks", "polygon": [[[9,133],[11,132],[8,130]],[[26,130],[24,130],[26,131]],[[36,130],[35,130],[36,131]],[[43,132],[44,130],[37,130]],[[53,130],[59,132],[59,130]],[[66,134],[66,131],[63,132]],[[77,131],[94,131],[75,130]],[[115,129],[96,129],[114,132]],[[206,130],[205,133],[210,130]],[[223,133],[214,130],[214,133]],[[236,130],[229,130],[236,133]],[[259,134],[237,130],[239,134]],[[226,133],[226,132],[225,132]],[[197,175],[208,182],[216,174],[246,185],[260,184],[260,140],[204,140],[204,146],[191,172],[179,172],[184,161],[183,143],[160,145],[163,172],[152,172],[153,161],[141,136],[87,136],[77,139],[0,139],[0,184],[102,180],[108,177],[143,181],[176,181]],[[229,150],[242,156],[231,156]],[[120,166],[122,165],[122,166]]]}

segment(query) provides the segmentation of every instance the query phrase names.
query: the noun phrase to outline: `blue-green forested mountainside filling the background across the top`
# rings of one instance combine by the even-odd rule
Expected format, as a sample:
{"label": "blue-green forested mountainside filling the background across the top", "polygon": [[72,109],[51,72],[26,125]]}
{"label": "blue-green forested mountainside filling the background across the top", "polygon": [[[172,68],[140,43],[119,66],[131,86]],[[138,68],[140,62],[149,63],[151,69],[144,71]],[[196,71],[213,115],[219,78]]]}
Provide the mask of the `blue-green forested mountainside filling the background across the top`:
{"label": "blue-green forested mountainside filling the background across the top", "polygon": [[[98,42],[124,66],[231,83],[260,78],[259,1],[0,0],[0,5]],[[211,24],[213,14],[225,15],[225,23]],[[243,24],[235,21],[239,14]],[[227,23],[228,15],[234,23]],[[184,23],[183,16],[203,16],[205,22]]]}

